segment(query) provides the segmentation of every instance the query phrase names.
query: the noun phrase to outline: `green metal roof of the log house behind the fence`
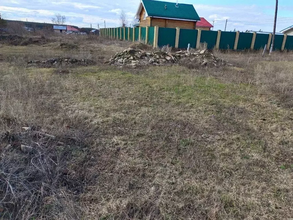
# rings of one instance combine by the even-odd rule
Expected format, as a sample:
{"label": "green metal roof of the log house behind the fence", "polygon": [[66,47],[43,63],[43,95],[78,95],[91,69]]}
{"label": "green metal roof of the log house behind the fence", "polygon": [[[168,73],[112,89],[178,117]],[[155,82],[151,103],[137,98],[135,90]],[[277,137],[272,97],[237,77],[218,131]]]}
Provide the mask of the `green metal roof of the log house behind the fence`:
{"label": "green metal roof of the log house behind the fence", "polygon": [[[200,21],[200,17],[191,4],[178,4],[174,2],[142,0],[147,16],[174,18]],[[166,8],[165,8],[166,6]]]}

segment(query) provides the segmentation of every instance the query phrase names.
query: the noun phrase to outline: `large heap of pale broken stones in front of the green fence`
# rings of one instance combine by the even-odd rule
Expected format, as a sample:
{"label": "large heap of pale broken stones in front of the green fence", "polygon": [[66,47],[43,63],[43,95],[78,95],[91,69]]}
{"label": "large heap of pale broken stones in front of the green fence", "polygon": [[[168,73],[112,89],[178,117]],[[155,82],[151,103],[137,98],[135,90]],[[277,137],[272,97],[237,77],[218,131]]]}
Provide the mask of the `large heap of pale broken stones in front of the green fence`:
{"label": "large heap of pale broken stones in front of the green fence", "polygon": [[226,61],[214,57],[208,50],[198,50],[196,52],[178,51],[176,53],[156,50],[146,52],[139,49],[128,48],[123,52],[116,53],[108,63],[118,66],[148,66],[148,65],[168,65],[175,63],[197,63],[202,66],[215,66],[227,64]]}

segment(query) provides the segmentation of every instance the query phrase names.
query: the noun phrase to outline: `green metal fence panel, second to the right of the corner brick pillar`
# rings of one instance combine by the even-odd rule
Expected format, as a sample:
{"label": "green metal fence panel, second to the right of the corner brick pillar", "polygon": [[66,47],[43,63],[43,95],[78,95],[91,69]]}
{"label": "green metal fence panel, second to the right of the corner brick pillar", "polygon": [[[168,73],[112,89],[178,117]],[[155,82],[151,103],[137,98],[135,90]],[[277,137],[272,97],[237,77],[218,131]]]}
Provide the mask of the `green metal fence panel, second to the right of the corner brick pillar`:
{"label": "green metal fence panel, second to the right of the corner brick pillar", "polygon": [[180,29],[178,47],[186,48],[190,44],[190,47],[195,48],[197,33],[198,30]]}

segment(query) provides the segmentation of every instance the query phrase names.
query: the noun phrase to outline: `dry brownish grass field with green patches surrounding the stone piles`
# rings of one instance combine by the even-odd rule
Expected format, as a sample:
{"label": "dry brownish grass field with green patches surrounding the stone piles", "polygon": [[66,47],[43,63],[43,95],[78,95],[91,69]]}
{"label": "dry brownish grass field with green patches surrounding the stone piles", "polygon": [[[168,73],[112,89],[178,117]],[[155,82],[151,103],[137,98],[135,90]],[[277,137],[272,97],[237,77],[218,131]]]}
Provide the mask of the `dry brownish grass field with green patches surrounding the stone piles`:
{"label": "dry brownish grass field with green patches surrounding the stone piles", "polygon": [[130,43],[0,44],[0,219],[292,219],[293,53],[104,64]]}

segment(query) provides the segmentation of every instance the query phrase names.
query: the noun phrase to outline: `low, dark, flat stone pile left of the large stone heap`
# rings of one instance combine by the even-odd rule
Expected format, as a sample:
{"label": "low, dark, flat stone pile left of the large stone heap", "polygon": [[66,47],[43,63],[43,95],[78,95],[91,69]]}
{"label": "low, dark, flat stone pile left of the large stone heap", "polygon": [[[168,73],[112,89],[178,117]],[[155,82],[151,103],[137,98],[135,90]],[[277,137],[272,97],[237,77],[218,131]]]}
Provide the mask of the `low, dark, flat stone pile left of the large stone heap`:
{"label": "low, dark, flat stone pile left of the large stone heap", "polygon": [[95,64],[91,59],[53,58],[47,60],[32,60],[25,67],[50,68],[55,66],[87,66]]}

